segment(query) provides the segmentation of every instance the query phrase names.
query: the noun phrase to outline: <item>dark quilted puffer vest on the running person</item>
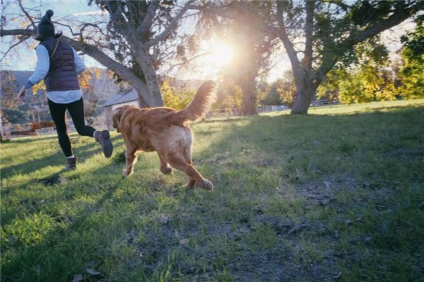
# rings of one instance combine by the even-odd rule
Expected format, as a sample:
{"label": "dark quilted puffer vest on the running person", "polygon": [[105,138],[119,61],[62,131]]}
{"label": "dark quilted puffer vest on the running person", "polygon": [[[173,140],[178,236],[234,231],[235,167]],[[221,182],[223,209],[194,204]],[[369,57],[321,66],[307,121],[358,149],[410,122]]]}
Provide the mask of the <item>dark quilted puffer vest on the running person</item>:
{"label": "dark quilted puffer vest on the running person", "polygon": [[[46,47],[49,56],[52,55],[57,43],[56,38],[47,37],[40,44]],[[59,45],[50,59],[49,72],[45,77],[47,91],[78,90],[78,78],[73,65],[73,51],[69,44],[59,42]]]}

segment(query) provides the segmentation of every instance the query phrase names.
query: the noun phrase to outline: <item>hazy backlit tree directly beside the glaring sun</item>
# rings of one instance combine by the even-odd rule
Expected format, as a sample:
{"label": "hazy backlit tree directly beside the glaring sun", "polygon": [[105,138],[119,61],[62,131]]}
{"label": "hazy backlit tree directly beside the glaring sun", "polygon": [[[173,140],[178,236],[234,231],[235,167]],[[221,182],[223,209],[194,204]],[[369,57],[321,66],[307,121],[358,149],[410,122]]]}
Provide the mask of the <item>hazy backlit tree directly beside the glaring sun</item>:
{"label": "hazy backlit tree directly beside the glaring sun", "polygon": [[258,28],[268,24],[271,9],[269,1],[230,1],[221,12],[228,19],[223,25],[228,32],[228,42],[237,50],[226,76],[242,90],[243,116],[257,113],[257,80],[259,73],[269,65],[275,46],[275,37]]}

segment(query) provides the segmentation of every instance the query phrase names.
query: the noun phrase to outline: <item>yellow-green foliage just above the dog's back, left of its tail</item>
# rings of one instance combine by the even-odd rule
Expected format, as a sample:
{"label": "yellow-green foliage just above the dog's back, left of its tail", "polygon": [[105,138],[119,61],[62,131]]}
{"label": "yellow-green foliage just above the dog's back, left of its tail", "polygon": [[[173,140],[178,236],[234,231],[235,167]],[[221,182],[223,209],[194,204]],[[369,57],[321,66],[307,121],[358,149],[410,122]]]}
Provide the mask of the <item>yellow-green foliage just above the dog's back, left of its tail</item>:
{"label": "yellow-green foliage just above the dog's back, left of its tail", "polygon": [[170,82],[170,80],[165,80],[160,87],[163,104],[173,109],[182,110],[189,105],[196,93],[193,90],[172,87]]}

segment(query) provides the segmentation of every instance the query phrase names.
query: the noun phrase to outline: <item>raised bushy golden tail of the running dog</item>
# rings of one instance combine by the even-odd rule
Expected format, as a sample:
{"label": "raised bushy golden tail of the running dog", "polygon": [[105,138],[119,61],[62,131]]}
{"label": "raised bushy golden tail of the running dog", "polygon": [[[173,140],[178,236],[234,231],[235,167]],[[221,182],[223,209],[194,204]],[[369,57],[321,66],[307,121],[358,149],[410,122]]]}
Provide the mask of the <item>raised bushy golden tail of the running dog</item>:
{"label": "raised bushy golden tail of the running dog", "polygon": [[204,84],[199,87],[194,99],[190,104],[183,110],[177,111],[170,118],[170,123],[172,124],[182,124],[187,121],[196,121],[201,118],[203,114],[208,111],[209,106],[215,102],[216,84],[212,80],[204,82]]}

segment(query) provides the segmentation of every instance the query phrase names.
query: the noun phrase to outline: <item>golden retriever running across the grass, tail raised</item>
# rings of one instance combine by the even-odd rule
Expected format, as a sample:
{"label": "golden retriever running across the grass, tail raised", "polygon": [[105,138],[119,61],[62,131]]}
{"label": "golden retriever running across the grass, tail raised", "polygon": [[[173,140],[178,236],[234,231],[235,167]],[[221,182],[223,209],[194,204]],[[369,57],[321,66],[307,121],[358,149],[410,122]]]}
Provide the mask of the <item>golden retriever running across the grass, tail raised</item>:
{"label": "golden retriever running across the grass, tail raised", "polygon": [[135,106],[120,106],[114,109],[113,127],[122,133],[125,144],[126,168],[124,176],[131,176],[139,151],[156,151],[160,160],[160,171],[172,173],[172,168],[184,171],[189,176],[187,187],[198,184],[213,190],[211,181],[203,178],[192,166],[193,134],[189,121],[196,121],[215,100],[215,83],[204,82],[197,90],[192,102],[177,111],[167,107],[139,109]]}

